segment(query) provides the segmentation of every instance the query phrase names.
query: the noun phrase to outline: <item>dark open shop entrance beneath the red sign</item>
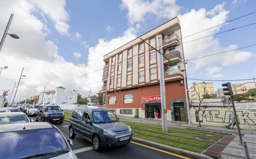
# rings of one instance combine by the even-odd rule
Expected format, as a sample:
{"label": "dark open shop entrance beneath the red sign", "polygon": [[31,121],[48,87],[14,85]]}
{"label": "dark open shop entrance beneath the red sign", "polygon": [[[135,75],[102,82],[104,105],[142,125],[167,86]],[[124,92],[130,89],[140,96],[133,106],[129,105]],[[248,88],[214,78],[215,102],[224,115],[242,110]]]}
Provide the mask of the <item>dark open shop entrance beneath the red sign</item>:
{"label": "dark open shop entrance beneath the red sign", "polygon": [[150,103],[145,104],[145,118],[161,118],[161,104],[160,103]]}

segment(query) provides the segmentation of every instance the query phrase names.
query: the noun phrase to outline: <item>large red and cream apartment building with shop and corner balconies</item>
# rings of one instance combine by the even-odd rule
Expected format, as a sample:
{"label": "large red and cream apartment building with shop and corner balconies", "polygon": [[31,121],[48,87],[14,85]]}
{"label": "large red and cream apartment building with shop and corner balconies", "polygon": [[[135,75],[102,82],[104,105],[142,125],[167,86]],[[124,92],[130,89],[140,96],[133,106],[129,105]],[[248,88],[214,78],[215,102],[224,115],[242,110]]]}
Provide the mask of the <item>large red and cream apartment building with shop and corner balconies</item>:
{"label": "large red and cream apartment building with shop and corner balconies", "polygon": [[103,87],[106,107],[118,115],[162,118],[160,97],[160,54],[165,70],[167,119],[188,121],[186,113],[185,70],[180,21],[177,17],[104,56]]}

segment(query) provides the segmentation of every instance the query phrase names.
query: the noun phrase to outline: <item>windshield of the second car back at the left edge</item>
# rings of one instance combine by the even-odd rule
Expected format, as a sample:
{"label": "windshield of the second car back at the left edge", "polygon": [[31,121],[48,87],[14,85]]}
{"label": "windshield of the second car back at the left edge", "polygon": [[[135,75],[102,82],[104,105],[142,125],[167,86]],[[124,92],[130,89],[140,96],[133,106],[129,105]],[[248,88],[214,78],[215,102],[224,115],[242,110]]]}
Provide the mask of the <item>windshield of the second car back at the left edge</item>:
{"label": "windshield of the second car back at the left edge", "polygon": [[[0,116],[0,124],[29,122],[25,114]],[[0,153],[1,154],[1,153]]]}

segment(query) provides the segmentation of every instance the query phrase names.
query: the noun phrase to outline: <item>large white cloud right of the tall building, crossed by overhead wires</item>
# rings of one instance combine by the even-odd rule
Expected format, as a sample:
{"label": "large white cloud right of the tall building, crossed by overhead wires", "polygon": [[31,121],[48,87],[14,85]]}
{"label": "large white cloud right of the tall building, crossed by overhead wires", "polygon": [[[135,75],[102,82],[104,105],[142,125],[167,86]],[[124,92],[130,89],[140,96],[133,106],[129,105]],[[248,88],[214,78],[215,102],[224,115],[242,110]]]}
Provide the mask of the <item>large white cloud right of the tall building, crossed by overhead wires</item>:
{"label": "large white cloud right of the tall building, crossed by overhead wires", "polygon": [[[204,30],[205,28],[226,22],[228,15],[229,11],[224,9],[224,3],[215,6],[210,11],[206,11],[204,8],[201,8],[198,11],[191,9],[190,12],[178,16],[181,22],[183,37],[198,32],[199,30]],[[198,33],[188,38],[183,38],[183,43],[217,33],[220,28],[221,27],[216,27],[207,30],[206,32]],[[227,47],[221,46],[221,42],[216,37],[203,38],[201,40],[185,43],[183,47],[185,51],[185,59],[196,58],[207,54],[219,53],[221,51],[237,48],[236,45],[229,45]],[[239,58],[239,56],[242,56],[243,58]],[[226,54],[219,54],[216,56],[209,56],[208,58],[189,61],[190,67],[188,67],[188,71],[196,72],[202,67],[213,66],[216,64],[221,64],[222,66],[237,64],[239,62],[247,61],[250,57],[252,57],[252,53],[248,51],[231,51]],[[227,61],[227,59],[232,60]]]}

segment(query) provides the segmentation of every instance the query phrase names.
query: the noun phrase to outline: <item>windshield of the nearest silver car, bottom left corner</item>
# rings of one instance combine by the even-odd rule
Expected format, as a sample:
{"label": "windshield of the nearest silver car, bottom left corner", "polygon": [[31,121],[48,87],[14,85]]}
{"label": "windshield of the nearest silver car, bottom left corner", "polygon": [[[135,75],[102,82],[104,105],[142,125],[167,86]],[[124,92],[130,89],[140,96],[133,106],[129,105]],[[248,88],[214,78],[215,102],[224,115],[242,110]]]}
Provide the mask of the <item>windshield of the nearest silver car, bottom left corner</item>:
{"label": "windshield of the nearest silver car, bottom left corner", "polygon": [[[22,158],[36,154],[69,150],[62,134],[55,128],[0,133],[1,158]],[[36,141],[36,142],[35,142]]]}

